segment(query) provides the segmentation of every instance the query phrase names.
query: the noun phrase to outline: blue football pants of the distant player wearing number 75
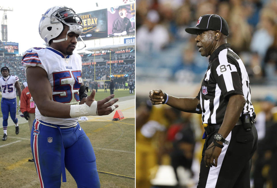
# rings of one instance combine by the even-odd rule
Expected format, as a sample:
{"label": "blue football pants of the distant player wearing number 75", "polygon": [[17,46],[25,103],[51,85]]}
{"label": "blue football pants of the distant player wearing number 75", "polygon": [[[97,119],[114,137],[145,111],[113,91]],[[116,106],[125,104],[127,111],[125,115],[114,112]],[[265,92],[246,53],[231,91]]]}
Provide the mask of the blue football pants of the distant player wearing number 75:
{"label": "blue football pants of the distant player wearing number 75", "polygon": [[8,126],[9,113],[12,121],[17,124],[18,119],[16,118],[17,100],[16,98],[2,98],[1,100],[1,111],[3,114],[3,128]]}

